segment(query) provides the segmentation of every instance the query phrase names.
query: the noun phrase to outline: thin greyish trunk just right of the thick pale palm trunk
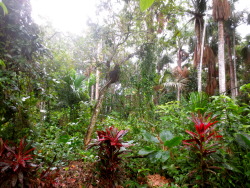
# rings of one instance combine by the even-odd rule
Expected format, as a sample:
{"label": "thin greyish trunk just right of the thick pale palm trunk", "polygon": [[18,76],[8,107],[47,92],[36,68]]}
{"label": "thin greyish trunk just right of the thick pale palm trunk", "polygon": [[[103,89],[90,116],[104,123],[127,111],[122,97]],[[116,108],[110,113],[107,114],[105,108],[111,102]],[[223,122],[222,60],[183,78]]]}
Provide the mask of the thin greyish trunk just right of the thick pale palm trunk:
{"label": "thin greyish trunk just right of the thick pale palm trunk", "polygon": [[231,87],[231,96],[235,98],[235,75],[234,75],[234,67],[233,67],[233,59],[231,53],[231,44],[230,44],[230,37],[227,37],[227,50],[228,50],[228,60],[229,60],[229,74],[230,74],[230,87]]}

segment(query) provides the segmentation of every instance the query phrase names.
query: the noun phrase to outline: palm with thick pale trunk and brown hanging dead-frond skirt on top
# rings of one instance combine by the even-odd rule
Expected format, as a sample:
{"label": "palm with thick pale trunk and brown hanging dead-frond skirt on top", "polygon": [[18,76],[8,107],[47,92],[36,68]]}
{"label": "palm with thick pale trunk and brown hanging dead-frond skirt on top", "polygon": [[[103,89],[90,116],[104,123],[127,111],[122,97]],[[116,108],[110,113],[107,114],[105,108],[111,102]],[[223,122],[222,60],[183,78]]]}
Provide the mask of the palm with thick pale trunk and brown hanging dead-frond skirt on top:
{"label": "palm with thick pale trunk and brown hanging dead-frond skirt on top", "polygon": [[230,16],[230,4],[227,0],[213,0],[213,18],[218,22],[218,61],[219,61],[219,92],[226,92],[226,71],[224,55],[224,21]]}

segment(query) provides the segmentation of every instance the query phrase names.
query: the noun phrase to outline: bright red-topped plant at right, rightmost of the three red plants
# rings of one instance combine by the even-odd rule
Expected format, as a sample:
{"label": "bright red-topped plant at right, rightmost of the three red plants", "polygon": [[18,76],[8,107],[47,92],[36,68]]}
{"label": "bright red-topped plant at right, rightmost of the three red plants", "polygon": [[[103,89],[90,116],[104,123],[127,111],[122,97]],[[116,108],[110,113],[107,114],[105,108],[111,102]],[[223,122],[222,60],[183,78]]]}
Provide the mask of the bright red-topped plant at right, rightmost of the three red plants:
{"label": "bright red-topped plant at right, rightmost of the three red plants", "polygon": [[183,144],[190,150],[194,162],[197,164],[196,168],[189,174],[196,174],[196,183],[205,187],[211,184],[208,181],[209,174],[216,174],[214,170],[220,169],[220,167],[214,165],[215,161],[211,155],[219,149],[219,140],[222,136],[215,130],[214,124],[217,121],[210,115],[192,115],[192,121],[194,122],[195,132],[186,130],[186,133],[192,138],[183,140]]}

